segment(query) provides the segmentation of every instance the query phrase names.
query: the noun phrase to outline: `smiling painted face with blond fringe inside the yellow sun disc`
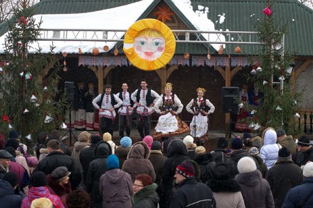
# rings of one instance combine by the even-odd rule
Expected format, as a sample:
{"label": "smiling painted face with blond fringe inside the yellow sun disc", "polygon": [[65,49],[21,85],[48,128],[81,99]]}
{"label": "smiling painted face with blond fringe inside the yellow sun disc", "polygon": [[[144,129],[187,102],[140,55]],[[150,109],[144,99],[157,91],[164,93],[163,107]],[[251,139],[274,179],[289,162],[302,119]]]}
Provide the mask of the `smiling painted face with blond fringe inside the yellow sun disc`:
{"label": "smiling painted face with blond fringe inside the yellow sun disc", "polygon": [[165,39],[161,33],[145,30],[138,33],[134,40],[134,49],[139,57],[145,60],[157,60],[165,49]]}

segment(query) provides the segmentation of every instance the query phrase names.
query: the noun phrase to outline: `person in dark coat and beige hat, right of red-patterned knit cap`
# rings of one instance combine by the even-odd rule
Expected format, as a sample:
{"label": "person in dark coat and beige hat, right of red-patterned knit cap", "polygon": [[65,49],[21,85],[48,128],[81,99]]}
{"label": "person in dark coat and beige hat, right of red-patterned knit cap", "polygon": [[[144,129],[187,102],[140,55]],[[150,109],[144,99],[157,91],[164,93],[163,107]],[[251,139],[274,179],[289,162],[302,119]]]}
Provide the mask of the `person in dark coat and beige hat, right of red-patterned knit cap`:
{"label": "person in dark coat and beige hat, right of red-patterned knit cap", "polygon": [[200,180],[202,183],[206,183],[212,177],[212,170],[215,166],[215,162],[211,154],[207,154],[203,146],[195,148],[195,162],[200,167]]}

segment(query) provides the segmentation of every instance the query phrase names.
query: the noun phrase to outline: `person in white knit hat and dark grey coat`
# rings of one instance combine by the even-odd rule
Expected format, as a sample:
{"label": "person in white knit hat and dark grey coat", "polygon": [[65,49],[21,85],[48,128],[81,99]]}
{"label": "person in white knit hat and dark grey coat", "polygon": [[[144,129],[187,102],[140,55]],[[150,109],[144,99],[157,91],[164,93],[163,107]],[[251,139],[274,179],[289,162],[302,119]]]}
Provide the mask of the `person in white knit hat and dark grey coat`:
{"label": "person in white knit hat and dark grey coat", "polygon": [[235,180],[241,186],[246,208],[274,208],[271,187],[257,170],[255,161],[251,157],[242,157],[237,166],[239,174]]}

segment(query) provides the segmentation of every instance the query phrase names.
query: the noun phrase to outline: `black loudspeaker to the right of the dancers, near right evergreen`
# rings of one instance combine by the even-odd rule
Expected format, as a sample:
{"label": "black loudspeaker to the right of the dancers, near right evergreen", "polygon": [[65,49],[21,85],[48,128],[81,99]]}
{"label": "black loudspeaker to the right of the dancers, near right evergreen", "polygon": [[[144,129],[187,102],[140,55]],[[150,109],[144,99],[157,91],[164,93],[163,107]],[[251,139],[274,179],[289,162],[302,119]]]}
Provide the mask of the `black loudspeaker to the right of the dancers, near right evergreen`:
{"label": "black loudspeaker to the right of the dancers, near right evergreen", "polygon": [[239,87],[223,87],[222,89],[222,112],[238,113],[239,105],[236,99],[239,98]]}

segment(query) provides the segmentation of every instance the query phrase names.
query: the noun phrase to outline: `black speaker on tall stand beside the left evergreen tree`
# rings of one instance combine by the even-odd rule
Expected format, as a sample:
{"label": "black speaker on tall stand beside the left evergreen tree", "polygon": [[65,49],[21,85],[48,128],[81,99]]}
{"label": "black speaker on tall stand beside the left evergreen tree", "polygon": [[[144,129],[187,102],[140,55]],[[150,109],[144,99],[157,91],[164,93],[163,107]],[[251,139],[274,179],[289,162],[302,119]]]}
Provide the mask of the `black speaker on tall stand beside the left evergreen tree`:
{"label": "black speaker on tall stand beside the left evergreen tree", "polygon": [[72,132],[72,113],[71,113],[73,110],[73,107],[74,107],[73,105],[75,101],[74,82],[65,82],[64,89],[65,89],[65,97],[66,97],[67,104],[70,106],[69,107],[70,128],[68,128],[67,132],[65,132],[63,137],[67,135],[67,133],[69,133],[70,134],[70,146],[72,146],[72,135],[77,141],[77,138]]}

